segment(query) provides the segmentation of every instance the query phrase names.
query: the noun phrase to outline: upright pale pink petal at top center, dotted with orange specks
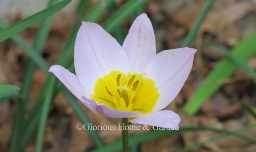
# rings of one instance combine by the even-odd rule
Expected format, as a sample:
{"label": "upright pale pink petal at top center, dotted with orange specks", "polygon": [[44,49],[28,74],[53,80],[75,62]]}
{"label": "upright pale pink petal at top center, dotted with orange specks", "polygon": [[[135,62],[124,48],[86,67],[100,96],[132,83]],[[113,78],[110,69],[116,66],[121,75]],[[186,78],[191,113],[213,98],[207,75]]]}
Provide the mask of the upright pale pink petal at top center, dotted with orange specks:
{"label": "upright pale pink petal at top center, dotted with orange specks", "polygon": [[147,14],[143,13],[134,20],[122,47],[129,57],[131,72],[142,73],[156,54],[154,30]]}

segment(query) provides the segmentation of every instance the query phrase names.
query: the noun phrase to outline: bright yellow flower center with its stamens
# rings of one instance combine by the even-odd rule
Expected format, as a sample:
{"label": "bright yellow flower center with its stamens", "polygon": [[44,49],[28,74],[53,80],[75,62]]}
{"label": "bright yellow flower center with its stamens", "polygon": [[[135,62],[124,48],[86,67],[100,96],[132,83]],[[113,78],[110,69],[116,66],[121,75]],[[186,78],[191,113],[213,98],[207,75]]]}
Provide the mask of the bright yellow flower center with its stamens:
{"label": "bright yellow flower center with its stamens", "polygon": [[149,113],[159,97],[158,89],[152,79],[139,73],[111,71],[100,77],[94,86],[91,99],[111,108],[129,112]]}

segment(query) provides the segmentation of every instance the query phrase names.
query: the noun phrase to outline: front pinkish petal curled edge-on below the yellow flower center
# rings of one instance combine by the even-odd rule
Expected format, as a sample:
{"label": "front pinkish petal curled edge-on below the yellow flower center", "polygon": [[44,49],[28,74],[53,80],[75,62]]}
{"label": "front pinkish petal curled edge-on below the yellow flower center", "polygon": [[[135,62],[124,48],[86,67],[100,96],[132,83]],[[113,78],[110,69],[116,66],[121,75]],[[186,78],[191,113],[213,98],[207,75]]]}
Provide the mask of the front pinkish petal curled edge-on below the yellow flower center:
{"label": "front pinkish petal curled edge-on below the yellow flower center", "polygon": [[103,116],[110,118],[128,118],[128,117],[137,117],[140,116],[140,112],[125,112],[117,109],[110,108],[104,104],[97,104],[97,102],[93,100],[86,99],[90,104],[94,107],[94,111]]}

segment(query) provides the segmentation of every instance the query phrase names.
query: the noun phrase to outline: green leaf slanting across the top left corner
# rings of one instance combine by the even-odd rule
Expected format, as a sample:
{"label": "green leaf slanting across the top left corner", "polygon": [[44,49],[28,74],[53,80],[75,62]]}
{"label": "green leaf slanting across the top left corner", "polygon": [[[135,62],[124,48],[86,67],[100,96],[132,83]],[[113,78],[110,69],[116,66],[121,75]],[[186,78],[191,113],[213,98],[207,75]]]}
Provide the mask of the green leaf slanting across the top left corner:
{"label": "green leaf slanting across the top left corner", "polygon": [[55,4],[54,6],[49,7],[48,9],[39,11],[38,13],[31,15],[30,17],[23,19],[17,23],[12,24],[10,27],[7,27],[0,31],[0,42],[3,42],[6,39],[9,39],[11,36],[25,30],[26,28],[32,26],[33,24],[39,22],[40,20],[53,15],[57,11],[61,10],[63,7],[68,5],[71,0],[63,0]]}

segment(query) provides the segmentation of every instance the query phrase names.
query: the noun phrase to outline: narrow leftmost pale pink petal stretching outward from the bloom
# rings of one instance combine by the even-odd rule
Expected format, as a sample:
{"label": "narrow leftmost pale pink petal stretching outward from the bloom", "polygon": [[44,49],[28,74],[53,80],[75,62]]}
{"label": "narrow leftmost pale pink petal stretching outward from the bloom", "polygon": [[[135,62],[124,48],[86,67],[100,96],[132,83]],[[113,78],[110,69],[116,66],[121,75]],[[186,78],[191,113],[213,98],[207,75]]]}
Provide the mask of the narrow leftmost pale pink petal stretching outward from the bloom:
{"label": "narrow leftmost pale pink petal stretching outward from the bloom", "polygon": [[53,65],[50,67],[49,72],[53,73],[58,79],[77,97],[80,101],[87,106],[87,108],[94,110],[90,102],[83,100],[83,97],[89,97],[89,93],[83,89],[79,83],[77,76],[69,72],[67,69],[60,65]]}

